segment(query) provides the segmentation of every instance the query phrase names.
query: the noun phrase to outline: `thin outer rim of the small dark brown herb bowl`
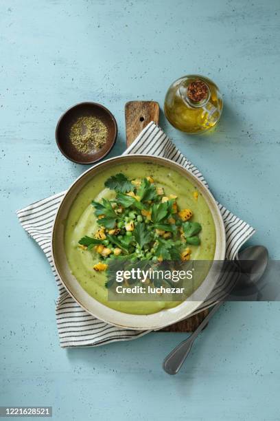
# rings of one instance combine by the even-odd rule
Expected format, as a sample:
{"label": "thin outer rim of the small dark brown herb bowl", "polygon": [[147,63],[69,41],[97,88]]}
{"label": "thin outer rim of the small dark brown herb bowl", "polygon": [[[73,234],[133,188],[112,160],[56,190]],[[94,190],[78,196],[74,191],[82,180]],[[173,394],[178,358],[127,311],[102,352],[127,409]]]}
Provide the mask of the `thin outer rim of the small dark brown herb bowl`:
{"label": "thin outer rim of the small dark brown herb bowl", "polygon": [[[92,161],[79,161],[79,160],[75,160],[73,158],[71,158],[69,155],[67,155],[67,153],[65,153],[65,151],[62,149],[62,147],[60,146],[60,141],[59,141],[59,136],[58,136],[58,129],[60,127],[60,124],[62,122],[62,120],[65,118],[65,116],[72,111],[72,109],[74,108],[78,108],[82,105],[94,105],[96,107],[99,107],[100,109],[102,109],[103,111],[106,112],[106,114],[108,114],[108,116],[110,116],[111,120],[113,121],[113,125],[115,128],[115,135],[114,138],[110,144],[110,148],[108,149],[108,151],[106,151],[100,158],[97,158],[96,160],[92,160]],[[62,155],[65,156],[65,158],[67,158],[67,160],[71,161],[71,162],[75,162],[75,164],[81,164],[81,165],[91,165],[91,164],[95,164],[97,162],[100,162],[103,158],[105,158],[108,153],[110,153],[110,151],[113,149],[113,146],[115,145],[115,142],[117,140],[117,133],[118,133],[118,129],[117,129],[117,120],[115,119],[115,116],[113,116],[113,114],[110,112],[110,110],[106,107],[104,107],[104,105],[100,104],[99,102],[91,102],[91,101],[83,101],[83,102],[78,102],[78,104],[72,105],[72,107],[69,107],[58,119],[58,122],[56,123],[56,144],[58,146],[58,149],[60,150],[60,152],[62,153]]]}

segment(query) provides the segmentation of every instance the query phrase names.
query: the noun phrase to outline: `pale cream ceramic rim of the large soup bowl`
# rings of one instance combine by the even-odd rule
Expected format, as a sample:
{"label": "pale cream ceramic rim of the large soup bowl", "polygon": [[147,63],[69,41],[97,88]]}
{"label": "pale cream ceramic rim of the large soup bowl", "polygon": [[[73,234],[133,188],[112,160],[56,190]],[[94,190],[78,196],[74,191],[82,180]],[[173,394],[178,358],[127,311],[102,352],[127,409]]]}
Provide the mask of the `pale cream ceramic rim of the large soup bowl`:
{"label": "pale cream ceramic rim of the large soup bowl", "polygon": [[[220,209],[219,209],[219,207],[218,207],[218,204],[217,204],[217,202],[215,201],[215,198],[213,197],[213,195],[212,195],[212,193],[211,193],[211,191],[209,191],[209,188],[207,188],[207,186],[205,186],[205,184],[203,184],[202,183],[202,181],[201,180],[199,180],[198,179],[198,177],[196,176],[196,175],[194,175],[193,173],[191,173],[191,171],[189,170],[189,169],[186,169],[184,166],[182,166],[182,165],[180,165],[180,164],[178,164],[177,162],[174,162],[173,160],[170,160],[170,159],[168,159],[168,158],[162,158],[162,157],[158,157],[158,156],[155,156],[155,155],[145,155],[145,154],[137,154],[137,155],[118,155],[118,156],[116,156],[116,157],[113,157],[113,158],[109,158],[108,160],[104,160],[104,161],[102,161],[102,162],[99,162],[98,164],[95,164],[94,166],[92,166],[90,169],[88,169],[88,170],[86,170],[86,171],[84,171],[84,173],[82,173],[81,175],[79,175],[79,177],[77,177],[75,180],[74,180],[74,182],[71,184],[71,186],[69,186],[69,188],[67,189],[67,191],[66,191],[66,193],[65,193],[65,196],[62,198],[62,201],[60,202],[60,204],[59,204],[59,206],[58,206],[58,209],[57,209],[57,211],[56,211],[56,216],[55,216],[55,219],[54,219],[54,225],[53,225],[53,228],[52,228],[52,230],[51,230],[51,257],[52,257],[52,260],[53,260],[53,263],[54,263],[54,269],[56,270],[56,273],[58,274],[58,278],[60,279],[60,281],[61,281],[61,283],[62,283],[62,285],[64,285],[64,287],[65,287],[65,289],[67,290],[67,292],[72,296],[72,298],[86,311],[86,312],[88,312],[89,314],[91,314],[92,316],[95,316],[97,319],[99,319],[99,320],[101,320],[101,321],[104,321],[105,323],[108,323],[108,324],[110,324],[110,325],[115,325],[115,326],[117,326],[117,327],[122,327],[122,328],[126,328],[126,329],[128,329],[128,330],[159,330],[159,329],[161,329],[161,328],[163,328],[163,327],[167,327],[168,325],[172,325],[172,324],[174,324],[174,323],[177,323],[178,321],[181,321],[181,320],[183,320],[183,319],[186,319],[191,313],[193,313],[195,310],[197,310],[198,309],[198,307],[204,302],[204,301],[187,301],[187,300],[185,300],[185,301],[183,301],[183,303],[180,303],[179,305],[177,305],[176,307],[172,307],[172,308],[169,308],[169,309],[163,309],[163,310],[160,310],[159,312],[156,312],[156,313],[152,313],[152,314],[148,314],[148,315],[142,315],[142,314],[129,314],[129,313],[124,313],[124,312],[119,312],[118,310],[114,310],[114,309],[112,309],[112,308],[110,308],[110,307],[108,307],[108,306],[106,306],[106,305],[104,305],[104,304],[102,304],[102,303],[100,303],[100,301],[97,301],[96,299],[94,299],[93,297],[91,297],[87,292],[86,292],[86,294],[88,295],[88,296],[90,296],[91,297],[91,300],[93,300],[94,302],[95,302],[95,305],[96,305],[96,307],[97,307],[97,309],[99,308],[99,310],[100,310],[100,308],[102,308],[103,309],[103,311],[107,314],[110,314],[110,316],[108,316],[108,319],[107,319],[107,316],[106,317],[104,317],[104,316],[100,316],[100,315],[97,315],[96,313],[94,313],[92,310],[90,310],[89,308],[87,308],[86,307],[86,305],[84,304],[84,303],[81,303],[81,301],[73,294],[73,292],[68,288],[68,286],[66,285],[66,283],[65,283],[65,281],[64,281],[64,279],[63,279],[63,277],[62,277],[62,275],[60,274],[60,270],[59,270],[59,268],[58,268],[58,266],[57,266],[57,261],[56,261],[56,256],[55,256],[55,253],[54,253],[54,241],[55,241],[55,239],[54,239],[54,235],[55,235],[55,233],[56,233],[56,227],[57,227],[57,225],[58,225],[58,216],[59,216],[59,213],[60,213],[60,209],[62,208],[62,206],[63,206],[63,204],[65,203],[65,199],[67,198],[67,196],[69,195],[69,193],[71,193],[71,190],[72,190],[72,188],[75,186],[75,184],[76,183],[78,183],[81,179],[82,179],[82,177],[85,177],[89,172],[91,172],[91,171],[94,171],[95,169],[97,169],[97,167],[100,167],[100,166],[103,166],[103,165],[106,165],[108,162],[114,162],[114,161],[119,161],[120,159],[126,159],[126,158],[133,158],[133,159],[137,159],[137,158],[141,158],[142,160],[144,160],[145,158],[147,158],[147,159],[149,159],[149,158],[152,158],[152,159],[154,159],[154,158],[156,158],[156,160],[159,160],[159,161],[161,161],[161,160],[163,160],[163,161],[165,161],[165,163],[166,162],[170,162],[171,164],[173,164],[174,166],[178,166],[179,168],[180,168],[180,170],[182,171],[185,171],[186,173],[188,173],[190,176],[191,176],[191,178],[194,178],[195,180],[196,180],[196,182],[197,182],[197,184],[199,184],[200,185],[200,187],[202,188],[202,191],[204,191],[204,193],[206,192],[206,195],[208,195],[209,196],[209,199],[211,200],[211,204],[213,205],[213,208],[215,208],[215,217],[217,217],[217,219],[218,219],[218,222],[219,222],[219,224],[220,224],[220,235],[221,235],[221,244],[220,244],[220,256],[221,256],[221,258],[220,259],[217,259],[217,260],[221,260],[221,261],[223,261],[224,259],[225,259],[225,254],[226,254],[226,234],[225,234],[225,227],[224,227],[224,222],[223,222],[223,219],[222,219],[222,215],[221,215],[221,213],[220,213]],[[116,164],[117,164],[117,162],[116,162]],[[88,182],[89,182],[89,180],[88,180]],[[84,184],[85,185],[85,184]],[[84,187],[84,186],[82,186],[82,187]],[[82,188],[81,188],[82,189]],[[75,193],[75,197],[78,195],[78,193]],[[72,203],[71,204],[73,204],[73,200],[72,200]],[[70,206],[71,207],[71,206]],[[211,209],[210,209],[211,210]],[[211,210],[211,215],[213,216],[213,211]],[[216,226],[215,226],[215,228],[217,228]],[[216,235],[217,235],[217,232],[216,232]],[[216,254],[216,252],[217,252],[217,247],[216,247],[216,249],[215,249],[215,254]],[[215,260],[215,258],[213,259],[213,261]],[[69,263],[67,262],[67,265],[69,266]],[[209,270],[209,272],[211,271],[211,269]],[[209,274],[207,274],[207,277],[209,276]],[[78,283],[78,280],[77,279],[75,279],[75,281],[76,281],[76,283]],[[204,283],[205,281],[203,281],[202,282],[202,284]],[[201,284],[201,285],[202,285]],[[78,283],[78,285],[80,285],[80,283]],[[200,286],[201,286],[200,285]],[[199,287],[200,288],[200,287]],[[82,286],[80,285],[80,290],[83,290],[83,288],[82,288]],[[84,292],[85,292],[85,290],[83,290]],[[205,297],[205,299],[206,299],[207,297]],[[145,323],[145,321],[148,321],[148,319],[149,319],[149,316],[158,316],[158,315],[161,315],[161,314],[174,314],[174,313],[176,313],[176,310],[178,310],[178,307],[181,307],[181,306],[183,306],[184,304],[186,304],[186,303],[189,303],[189,310],[186,312],[186,314],[183,314],[183,315],[181,315],[181,316],[179,316],[178,318],[174,318],[174,319],[172,319],[172,320],[170,320],[170,321],[165,321],[165,323],[156,323],[156,324],[154,324],[154,325],[146,325],[146,323]],[[98,313],[98,310],[97,310],[97,313]],[[113,319],[112,319],[112,316],[113,316],[113,318],[114,317],[116,317],[117,319],[118,319],[118,317],[117,316],[119,316],[121,319],[123,318],[123,319],[137,319],[137,321],[139,321],[140,319],[143,321],[143,325],[141,325],[141,326],[139,326],[139,325],[132,325],[131,323],[130,323],[130,321],[128,322],[128,321],[126,321],[126,323],[119,323],[119,322],[117,322],[117,321],[114,321]],[[160,320],[161,318],[160,318],[160,316],[159,316],[159,320]],[[141,323],[140,323],[141,324]]]}

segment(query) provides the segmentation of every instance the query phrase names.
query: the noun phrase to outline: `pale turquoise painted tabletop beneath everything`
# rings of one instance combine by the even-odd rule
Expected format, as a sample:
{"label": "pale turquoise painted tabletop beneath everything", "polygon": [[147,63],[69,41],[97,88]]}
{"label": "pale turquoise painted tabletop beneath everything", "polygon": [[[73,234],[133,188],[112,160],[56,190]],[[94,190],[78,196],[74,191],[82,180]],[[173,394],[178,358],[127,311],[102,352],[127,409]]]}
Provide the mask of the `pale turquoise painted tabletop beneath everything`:
{"label": "pale turquoise painted tabletop beneath everything", "polygon": [[[1,1],[1,405],[51,405],[54,420],[279,420],[279,303],[228,303],[178,376],[161,361],[186,334],[60,349],[56,285],[15,210],[62,191],[85,167],[56,147],[69,106],[156,100],[198,72],[224,94],[212,136],[161,126],[215,196],[280,258],[279,1]],[[272,206],[273,204],[273,206]]]}

